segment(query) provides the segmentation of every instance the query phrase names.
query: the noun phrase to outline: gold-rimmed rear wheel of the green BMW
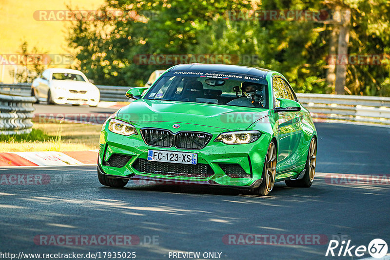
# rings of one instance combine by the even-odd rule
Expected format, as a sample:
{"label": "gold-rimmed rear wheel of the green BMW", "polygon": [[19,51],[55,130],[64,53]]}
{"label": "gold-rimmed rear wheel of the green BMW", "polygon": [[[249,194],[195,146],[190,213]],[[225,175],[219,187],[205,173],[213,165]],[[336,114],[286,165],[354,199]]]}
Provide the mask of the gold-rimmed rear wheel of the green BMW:
{"label": "gold-rimmed rear wheel of the green BMW", "polygon": [[314,175],[315,175],[315,162],[317,159],[317,141],[315,138],[312,138],[312,141],[310,141],[309,146],[309,152],[308,152],[308,158],[306,160],[306,166],[305,166],[305,175],[303,175],[303,178],[300,180],[287,180],[286,185],[289,187],[303,187],[308,188],[312,186],[312,183],[314,181]]}

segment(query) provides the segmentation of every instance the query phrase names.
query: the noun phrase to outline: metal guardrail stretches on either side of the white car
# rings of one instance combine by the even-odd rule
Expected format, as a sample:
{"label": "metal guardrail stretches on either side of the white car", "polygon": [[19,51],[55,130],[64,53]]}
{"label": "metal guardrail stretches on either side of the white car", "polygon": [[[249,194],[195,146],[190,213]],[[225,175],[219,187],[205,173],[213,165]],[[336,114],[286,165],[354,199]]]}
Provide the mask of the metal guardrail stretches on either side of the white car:
{"label": "metal guardrail stretches on either side of the white car", "polygon": [[[100,91],[100,101],[127,102],[125,96],[132,87],[96,85]],[[18,96],[31,96],[31,83],[0,84],[0,94],[12,94]]]}

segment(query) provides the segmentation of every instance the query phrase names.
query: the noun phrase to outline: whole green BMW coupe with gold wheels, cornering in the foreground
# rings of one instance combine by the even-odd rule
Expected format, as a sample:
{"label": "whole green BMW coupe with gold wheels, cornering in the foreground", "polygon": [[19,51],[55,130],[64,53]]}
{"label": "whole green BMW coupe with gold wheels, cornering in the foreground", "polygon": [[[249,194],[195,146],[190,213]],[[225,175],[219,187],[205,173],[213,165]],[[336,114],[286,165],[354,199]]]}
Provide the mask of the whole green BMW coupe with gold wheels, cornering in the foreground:
{"label": "whole green BMW coupe with gold wheels, cornering in the foreground", "polygon": [[317,132],[286,78],[261,68],[182,64],[104,123],[98,179],[203,184],[268,195],[275,182],[310,187]]}

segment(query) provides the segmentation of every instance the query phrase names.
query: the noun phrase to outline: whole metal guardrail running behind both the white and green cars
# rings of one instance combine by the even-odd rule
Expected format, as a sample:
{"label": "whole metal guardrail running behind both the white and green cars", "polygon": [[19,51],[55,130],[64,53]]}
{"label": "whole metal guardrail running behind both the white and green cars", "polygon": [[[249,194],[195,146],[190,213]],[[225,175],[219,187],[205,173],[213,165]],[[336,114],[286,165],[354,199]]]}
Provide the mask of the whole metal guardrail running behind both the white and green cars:
{"label": "whole metal guardrail running behind both the white and green cars", "polygon": [[[101,101],[128,101],[131,87],[97,85]],[[30,83],[0,84],[0,94],[31,95]],[[297,93],[317,120],[353,121],[390,125],[390,97]]]}

